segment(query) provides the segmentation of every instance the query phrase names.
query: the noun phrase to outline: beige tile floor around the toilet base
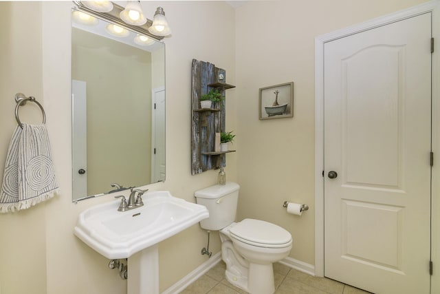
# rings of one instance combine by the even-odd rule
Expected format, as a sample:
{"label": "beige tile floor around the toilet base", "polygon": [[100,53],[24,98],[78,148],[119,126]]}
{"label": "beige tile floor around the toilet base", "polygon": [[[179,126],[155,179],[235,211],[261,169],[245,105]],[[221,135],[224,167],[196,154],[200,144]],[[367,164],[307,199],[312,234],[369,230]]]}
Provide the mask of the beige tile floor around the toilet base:
{"label": "beige tile floor around the toilet base", "polygon": [[[219,262],[181,294],[236,294],[247,293],[225,280],[226,266]],[[280,263],[274,264],[275,294],[368,294],[358,288],[327,279],[312,277]]]}

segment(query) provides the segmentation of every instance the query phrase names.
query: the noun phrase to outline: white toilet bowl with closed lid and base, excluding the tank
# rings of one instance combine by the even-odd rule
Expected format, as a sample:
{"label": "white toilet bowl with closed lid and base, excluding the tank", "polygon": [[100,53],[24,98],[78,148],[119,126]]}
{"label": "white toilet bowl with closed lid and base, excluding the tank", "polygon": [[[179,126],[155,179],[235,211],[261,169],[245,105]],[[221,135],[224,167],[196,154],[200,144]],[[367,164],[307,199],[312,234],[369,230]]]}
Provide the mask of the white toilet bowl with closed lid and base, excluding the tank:
{"label": "white toilet bowl with closed lid and base, excluding the tank", "polygon": [[234,222],[219,233],[226,280],[252,294],[274,293],[272,264],[289,255],[290,233],[270,222],[254,219]]}

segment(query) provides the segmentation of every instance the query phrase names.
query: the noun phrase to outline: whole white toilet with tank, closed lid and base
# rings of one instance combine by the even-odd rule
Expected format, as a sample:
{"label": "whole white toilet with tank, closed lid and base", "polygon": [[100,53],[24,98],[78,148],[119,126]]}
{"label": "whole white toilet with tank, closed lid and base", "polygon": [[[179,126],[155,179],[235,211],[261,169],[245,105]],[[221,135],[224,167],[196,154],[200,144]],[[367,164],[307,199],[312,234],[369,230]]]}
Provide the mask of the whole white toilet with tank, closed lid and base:
{"label": "whole white toilet with tank, closed lid and base", "polygon": [[252,294],[275,291],[272,263],[289,255],[292,235],[276,224],[247,218],[234,222],[240,186],[234,182],[195,192],[198,204],[208,208],[209,218],[200,226],[219,231],[221,258],[226,264],[226,279]]}

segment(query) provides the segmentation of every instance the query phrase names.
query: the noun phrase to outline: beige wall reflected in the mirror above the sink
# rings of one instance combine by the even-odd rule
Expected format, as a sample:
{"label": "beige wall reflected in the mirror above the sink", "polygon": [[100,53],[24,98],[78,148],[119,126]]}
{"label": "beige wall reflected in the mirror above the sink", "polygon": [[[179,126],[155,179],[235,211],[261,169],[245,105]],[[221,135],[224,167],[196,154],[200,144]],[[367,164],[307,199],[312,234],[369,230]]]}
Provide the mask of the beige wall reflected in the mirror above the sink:
{"label": "beige wall reflected in the mirror above the sink", "polygon": [[88,195],[149,182],[151,54],[76,28],[72,40],[72,78],[87,82]]}

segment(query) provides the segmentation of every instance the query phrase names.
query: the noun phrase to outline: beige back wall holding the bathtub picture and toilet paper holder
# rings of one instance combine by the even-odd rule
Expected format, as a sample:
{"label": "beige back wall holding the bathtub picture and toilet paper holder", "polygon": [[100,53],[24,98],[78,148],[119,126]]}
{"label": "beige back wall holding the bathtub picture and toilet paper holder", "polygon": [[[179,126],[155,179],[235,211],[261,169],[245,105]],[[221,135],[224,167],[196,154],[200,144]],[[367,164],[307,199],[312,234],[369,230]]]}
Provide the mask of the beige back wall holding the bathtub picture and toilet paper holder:
{"label": "beige back wall holding the bathtub picture and toilet paper holder", "polygon": [[[314,264],[314,39],[423,0],[252,1],[236,9],[239,219],[292,233],[290,257]],[[259,120],[259,88],[294,82],[294,117]],[[309,204],[303,216],[285,200]]]}

